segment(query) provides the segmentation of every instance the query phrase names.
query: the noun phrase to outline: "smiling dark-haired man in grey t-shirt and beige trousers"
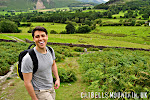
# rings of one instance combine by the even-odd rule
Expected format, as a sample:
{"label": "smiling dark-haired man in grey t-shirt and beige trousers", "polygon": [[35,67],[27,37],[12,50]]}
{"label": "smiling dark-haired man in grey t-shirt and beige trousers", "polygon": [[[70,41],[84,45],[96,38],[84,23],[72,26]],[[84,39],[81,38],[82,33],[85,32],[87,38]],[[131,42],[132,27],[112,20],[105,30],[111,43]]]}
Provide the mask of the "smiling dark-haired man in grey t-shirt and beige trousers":
{"label": "smiling dark-haired man in grey t-shirt and beige trousers", "polygon": [[[48,35],[44,27],[37,26],[32,31],[32,37],[36,44],[33,48],[38,59],[38,70],[33,74],[33,62],[27,53],[22,60],[24,85],[32,100],[55,100],[55,90],[60,86],[60,79],[55,63],[55,53],[51,54],[46,47]],[[56,77],[53,88],[53,77]]]}

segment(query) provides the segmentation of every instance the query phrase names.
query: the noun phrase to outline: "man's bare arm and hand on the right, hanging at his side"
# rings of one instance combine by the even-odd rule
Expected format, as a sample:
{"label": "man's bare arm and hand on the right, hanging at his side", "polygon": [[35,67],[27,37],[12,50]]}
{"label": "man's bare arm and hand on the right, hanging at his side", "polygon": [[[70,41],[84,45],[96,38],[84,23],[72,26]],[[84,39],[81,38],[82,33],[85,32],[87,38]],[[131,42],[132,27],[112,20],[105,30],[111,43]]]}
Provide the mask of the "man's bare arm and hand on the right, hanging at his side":
{"label": "man's bare arm and hand on the right, hanging at his side", "polygon": [[59,79],[57,65],[56,65],[55,60],[53,60],[52,72],[53,72],[54,76],[56,77],[54,89],[58,89],[60,86],[60,79]]}

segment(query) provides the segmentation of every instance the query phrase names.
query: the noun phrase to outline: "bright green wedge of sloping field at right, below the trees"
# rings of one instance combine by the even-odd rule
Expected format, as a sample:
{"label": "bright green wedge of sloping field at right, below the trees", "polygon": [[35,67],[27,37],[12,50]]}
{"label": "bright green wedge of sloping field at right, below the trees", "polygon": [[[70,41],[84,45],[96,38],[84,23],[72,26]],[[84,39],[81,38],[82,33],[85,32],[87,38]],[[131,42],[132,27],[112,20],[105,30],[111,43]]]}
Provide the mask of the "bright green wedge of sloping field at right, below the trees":
{"label": "bright green wedge of sloping field at right, below the trees", "polygon": [[[91,33],[98,33],[101,38],[150,45],[149,31],[150,31],[149,27],[135,27],[135,26],[133,27],[132,26],[131,27],[127,27],[127,26],[110,27],[108,26],[108,27],[97,27],[96,30],[92,31]],[[106,34],[108,36],[105,36]],[[114,37],[114,36],[111,36],[112,34],[123,34],[127,36]]]}

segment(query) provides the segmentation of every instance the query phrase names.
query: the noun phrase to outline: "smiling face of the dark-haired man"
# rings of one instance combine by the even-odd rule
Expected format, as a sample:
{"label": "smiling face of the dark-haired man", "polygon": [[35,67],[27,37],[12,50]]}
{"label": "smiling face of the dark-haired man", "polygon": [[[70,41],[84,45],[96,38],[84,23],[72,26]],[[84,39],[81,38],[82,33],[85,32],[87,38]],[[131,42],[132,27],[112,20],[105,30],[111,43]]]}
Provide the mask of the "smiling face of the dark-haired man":
{"label": "smiling face of the dark-haired man", "polygon": [[46,47],[48,35],[43,31],[35,31],[33,40],[38,48],[43,49]]}

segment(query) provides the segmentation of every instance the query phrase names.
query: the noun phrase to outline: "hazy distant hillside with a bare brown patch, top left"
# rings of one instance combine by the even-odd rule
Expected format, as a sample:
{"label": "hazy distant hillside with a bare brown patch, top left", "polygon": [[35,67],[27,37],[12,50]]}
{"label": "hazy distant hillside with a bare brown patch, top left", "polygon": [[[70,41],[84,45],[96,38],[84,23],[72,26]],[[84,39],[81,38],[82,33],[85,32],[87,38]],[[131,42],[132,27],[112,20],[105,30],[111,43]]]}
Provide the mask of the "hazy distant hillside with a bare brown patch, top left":
{"label": "hazy distant hillside with a bare brown patch, top left", "polygon": [[[85,2],[86,1],[86,2]],[[50,9],[82,6],[88,2],[102,3],[103,0],[0,0],[0,10]],[[91,4],[92,4],[91,3]]]}

